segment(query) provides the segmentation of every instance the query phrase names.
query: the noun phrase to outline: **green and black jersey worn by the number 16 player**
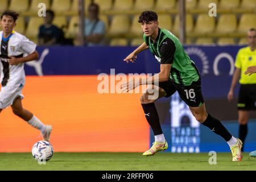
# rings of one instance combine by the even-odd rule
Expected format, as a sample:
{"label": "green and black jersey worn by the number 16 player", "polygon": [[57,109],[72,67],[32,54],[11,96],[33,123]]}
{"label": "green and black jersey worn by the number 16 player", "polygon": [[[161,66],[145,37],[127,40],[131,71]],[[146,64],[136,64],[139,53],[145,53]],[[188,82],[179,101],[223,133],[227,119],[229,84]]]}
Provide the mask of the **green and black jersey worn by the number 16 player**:
{"label": "green and black jersey worn by the number 16 player", "polygon": [[159,28],[155,42],[143,35],[150,52],[160,64],[172,64],[170,79],[180,85],[191,85],[200,78],[195,63],[185,53],[179,39],[170,31]]}

